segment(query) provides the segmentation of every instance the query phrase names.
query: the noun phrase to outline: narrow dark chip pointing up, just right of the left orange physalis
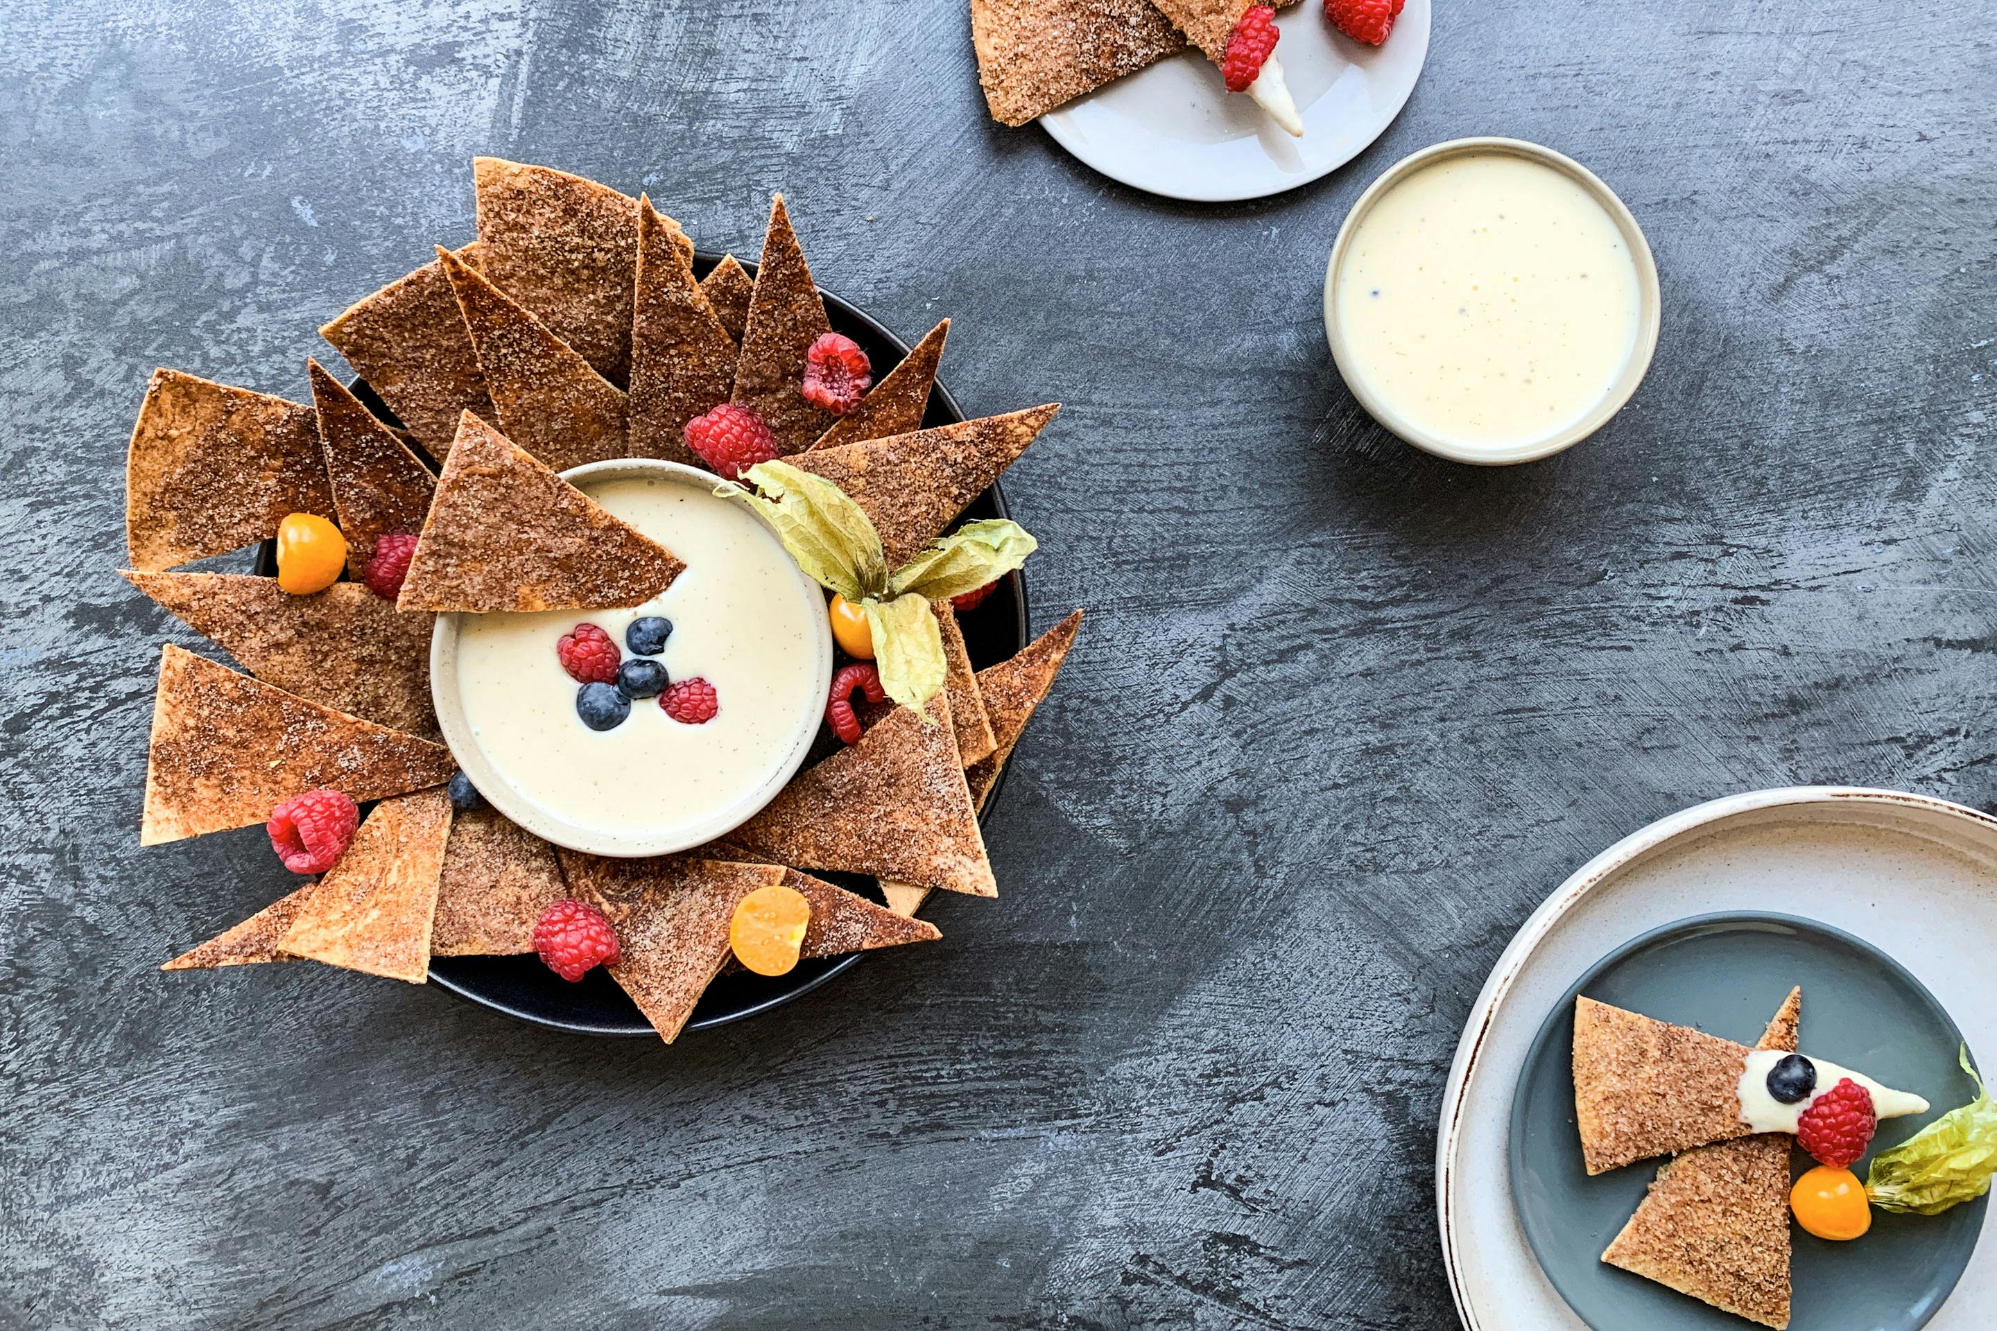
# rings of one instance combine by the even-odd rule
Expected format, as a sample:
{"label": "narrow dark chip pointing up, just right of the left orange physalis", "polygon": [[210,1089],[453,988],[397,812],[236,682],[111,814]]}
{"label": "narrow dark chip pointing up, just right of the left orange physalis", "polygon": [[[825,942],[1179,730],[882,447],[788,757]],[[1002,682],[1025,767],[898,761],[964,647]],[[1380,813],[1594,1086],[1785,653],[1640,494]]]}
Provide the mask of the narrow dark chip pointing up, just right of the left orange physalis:
{"label": "narrow dark chip pointing up, just right of the left orange physalis", "polygon": [[318,361],[306,361],[306,369],[339,535],[347,539],[347,571],[359,577],[377,537],[423,531],[437,477]]}

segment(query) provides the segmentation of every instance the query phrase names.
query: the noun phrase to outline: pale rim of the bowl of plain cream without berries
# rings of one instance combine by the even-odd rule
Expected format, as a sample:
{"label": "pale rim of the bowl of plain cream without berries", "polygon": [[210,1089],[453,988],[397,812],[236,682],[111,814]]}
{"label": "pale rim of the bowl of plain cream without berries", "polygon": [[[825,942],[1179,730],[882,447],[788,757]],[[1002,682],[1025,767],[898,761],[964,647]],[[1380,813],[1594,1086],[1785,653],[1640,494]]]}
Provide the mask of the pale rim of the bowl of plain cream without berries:
{"label": "pale rim of the bowl of plain cream without berries", "polygon": [[[1630,257],[1636,263],[1638,277],[1638,333],[1636,345],[1630,347],[1630,359],[1624,361],[1622,373],[1610,385],[1610,391],[1590,409],[1582,419],[1570,423],[1568,427],[1526,443],[1512,443],[1502,447],[1474,447],[1452,439],[1444,439],[1432,431],[1422,429],[1406,415],[1396,411],[1380,395],[1376,395],[1368,385],[1364,375],[1358,371],[1358,361],[1346,341],[1346,331],[1338,319],[1338,279],[1344,267],[1346,251],[1352,243],[1352,233],[1358,223],[1370,214],[1378,202],[1400,182],[1404,182],[1414,172],[1448,158],[1468,158],[1480,154],[1510,154],[1514,158],[1524,158],[1528,162],[1538,162],[1550,166],[1562,176],[1568,176],[1580,184],[1588,194],[1602,204],[1602,208],[1616,222],[1616,227],[1624,235],[1624,243],[1630,249]],[[1610,186],[1590,172],[1586,166],[1574,158],[1546,148],[1544,144],[1534,144],[1518,138],[1504,136],[1476,136],[1458,138],[1442,144],[1432,144],[1420,152],[1408,154],[1394,166],[1380,172],[1380,176],[1366,186],[1358,202],[1352,204],[1352,212],[1346,214],[1344,223],[1338,227],[1338,239],[1332,241],[1332,255],[1324,265],[1324,335],[1332,347],[1332,361],[1338,365],[1338,375],[1346,381],[1346,389],[1358,399],[1366,413],[1378,421],[1388,433],[1400,437],[1406,443],[1422,449],[1424,453],[1434,453],[1436,457],[1446,457],[1456,463],[1470,463],[1476,467],[1508,467],[1514,463],[1532,463],[1542,457],[1552,457],[1554,453],[1564,453],[1572,449],[1582,439],[1588,439],[1598,429],[1610,423],[1616,413],[1630,405],[1636,397],[1638,387],[1650,373],[1652,357],[1658,351],[1658,333],[1664,325],[1664,291],[1658,283],[1658,261],[1650,251],[1650,239],[1644,235],[1644,227],[1638,223],[1636,214],[1630,206],[1610,190]]]}

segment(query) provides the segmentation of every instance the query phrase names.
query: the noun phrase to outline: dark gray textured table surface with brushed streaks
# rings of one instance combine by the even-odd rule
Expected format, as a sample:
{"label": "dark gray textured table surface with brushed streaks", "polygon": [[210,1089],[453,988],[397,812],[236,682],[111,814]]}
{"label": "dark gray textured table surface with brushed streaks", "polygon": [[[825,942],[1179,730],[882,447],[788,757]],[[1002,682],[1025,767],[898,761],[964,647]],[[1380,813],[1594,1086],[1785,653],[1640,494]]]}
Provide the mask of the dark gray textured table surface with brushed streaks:
{"label": "dark gray textured table surface with brushed streaks", "polygon": [[[1997,800],[1997,60],[1977,6],[1438,0],[1350,168],[1124,192],[983,114],[961,0],[0,0],[0,1323],[1448,1327],[1434,1115],[1504,940],[1695,800]],[[1332,233],[1462,134],[1594,166],[1665,327],[1550,463],[1426,459],[1324,349]],[[998,902],[777,1016],[555,1038],[310,966],[162,976],[274,894],[140,852],[158,643],[112,575],[176,365],[300,397],[314,327],[471,235],[469,158],[647,188],[957,319],[1036,627]]]}

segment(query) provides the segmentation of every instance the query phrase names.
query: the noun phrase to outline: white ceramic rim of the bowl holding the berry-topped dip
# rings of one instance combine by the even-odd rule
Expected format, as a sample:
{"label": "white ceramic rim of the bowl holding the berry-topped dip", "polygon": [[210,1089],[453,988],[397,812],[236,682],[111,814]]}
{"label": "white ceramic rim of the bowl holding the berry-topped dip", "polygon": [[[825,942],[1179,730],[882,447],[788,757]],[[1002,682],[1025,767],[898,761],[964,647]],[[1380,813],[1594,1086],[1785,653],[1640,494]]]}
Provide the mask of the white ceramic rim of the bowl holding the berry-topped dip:
{"label": "white ceramic rim of the bowl holding the berry-topped dip", "polygon": [[[585,467],[563,471],[561,477],[577,487],[627,479],[673,481],[679,485],[699,487],[709,495],[715,485],[719,485],[719,479],[709,471],[645,457],[621,457],[605,463],[589,463]],[[763,521],[761,515],[757,515],[757,521]],[[771,539],[775,539],[775,533],[771,533]],[[833,678],[833,627],[825,615],[825,593],[817,583],[805,577],[803,569],[799,569],[797,595],[809,601],[809,623],[817,625],[817,633],[813,637],[813,672],[819,676],[819,690],[823,694],[831,688]],[[581,617],[585,613],[577,611],[577,615]],[[765,804],[777,798],[777,792],[783,790],[791,776],[797,774],[797,768],[803,766],[805,754],[811,750],[811,740],[819,732],[819,712],[807,710],[799,718],[797,730],[789,736],[787,746],[771,756],[769,776],[725,810],[701,822],[639,828],[631,832],[605,832],[603,828],[579,826],[561,814],[535,804],[509,786],[471,736],[471,724],[465,720],[463,704],[457,696],[457,629],[461,619],[461,615],[437,615],[437,627],[429,639],[429,696],[437,708],[437,724],[443,728],[443,742],[449,744],[451,756],[457,758],[457,766],[465,770],[465,776],[471,778],[471,784],[479,788],[479,794],[483,794],[493,808],[535,836],[551,840],[557,846],[567,846],[569,850],[631,858],[691,850],[693,846],[727,836],[761,812]]]}

